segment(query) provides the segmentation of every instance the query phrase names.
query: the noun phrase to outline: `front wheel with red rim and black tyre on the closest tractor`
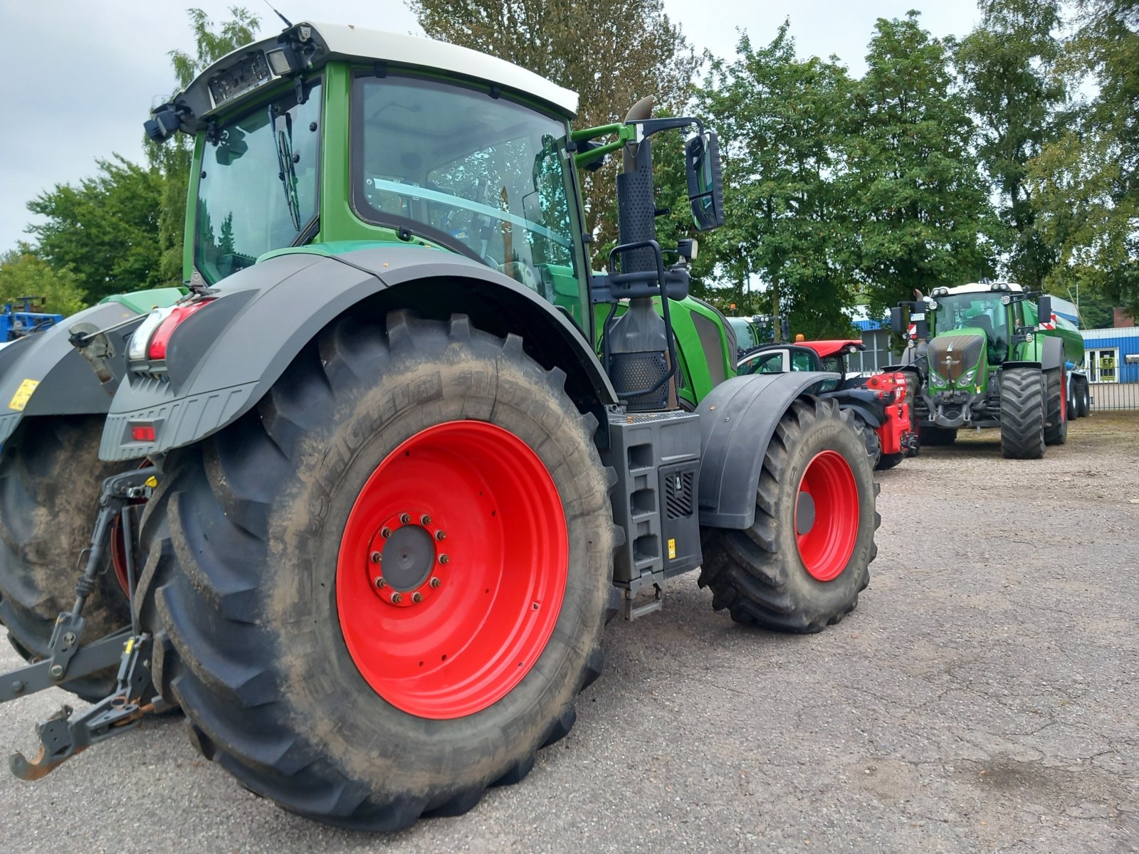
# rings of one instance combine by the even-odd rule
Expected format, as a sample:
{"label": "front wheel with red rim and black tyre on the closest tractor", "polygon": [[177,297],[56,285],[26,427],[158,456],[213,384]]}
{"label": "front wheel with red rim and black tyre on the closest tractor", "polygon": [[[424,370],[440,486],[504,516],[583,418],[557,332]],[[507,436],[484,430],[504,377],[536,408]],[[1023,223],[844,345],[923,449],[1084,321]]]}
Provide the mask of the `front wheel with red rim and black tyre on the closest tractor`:
{"label": "front wheel with red rim and black tyre on the closest tractor", "polygon": [[755,522],[702,529],[699,585],[737,623],[818,632],[854,610],[877,555],[874,482],[851,416],[796,401],[763,457]]}

